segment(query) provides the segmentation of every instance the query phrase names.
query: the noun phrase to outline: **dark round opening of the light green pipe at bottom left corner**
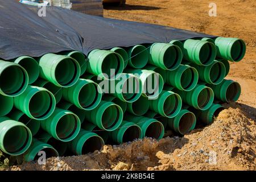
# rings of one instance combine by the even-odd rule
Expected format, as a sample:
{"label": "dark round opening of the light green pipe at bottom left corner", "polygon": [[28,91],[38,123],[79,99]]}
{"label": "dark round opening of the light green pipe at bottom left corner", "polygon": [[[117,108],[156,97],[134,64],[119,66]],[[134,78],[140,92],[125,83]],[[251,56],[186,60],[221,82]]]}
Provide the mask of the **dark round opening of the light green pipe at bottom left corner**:
{"label": "dark round opening of the light green pipe at bottom left corner", "polygon": [[28,143],[29,133],[24,126],[14,126],[8,130],[3,138],[3,146],[9,153],[16,153],[24,149]]}

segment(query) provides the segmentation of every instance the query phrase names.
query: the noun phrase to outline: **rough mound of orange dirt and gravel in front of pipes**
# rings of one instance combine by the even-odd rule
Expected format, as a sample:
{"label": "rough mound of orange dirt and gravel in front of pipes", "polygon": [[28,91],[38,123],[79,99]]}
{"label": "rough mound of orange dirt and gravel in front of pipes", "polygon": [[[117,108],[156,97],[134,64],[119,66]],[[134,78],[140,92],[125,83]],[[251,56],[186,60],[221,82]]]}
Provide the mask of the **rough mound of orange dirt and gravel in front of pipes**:
{"label": "rough mound of orange dirt and gravel in front of pipes", "polygon": [[212,125],[184,137],[135,140],[81,156],[24,163],[11,170],[255,170],[255,118],[227,105]]}

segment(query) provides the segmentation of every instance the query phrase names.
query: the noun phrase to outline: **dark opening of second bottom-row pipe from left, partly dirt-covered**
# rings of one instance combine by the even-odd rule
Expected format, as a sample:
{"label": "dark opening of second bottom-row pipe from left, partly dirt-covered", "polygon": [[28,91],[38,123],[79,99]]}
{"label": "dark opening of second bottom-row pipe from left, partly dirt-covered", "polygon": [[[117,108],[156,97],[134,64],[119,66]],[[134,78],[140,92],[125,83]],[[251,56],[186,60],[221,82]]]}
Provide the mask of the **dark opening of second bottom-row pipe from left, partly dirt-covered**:
{"label": "dark opening of second bottom-row pipe from left, partly dirt-covered", "polygon": [[84,145],[82,146],[82,154],[87,154],[89,152],[94,152],[96,150],[101,150],[104,143],[100,137],[93,136],[88,138]]}

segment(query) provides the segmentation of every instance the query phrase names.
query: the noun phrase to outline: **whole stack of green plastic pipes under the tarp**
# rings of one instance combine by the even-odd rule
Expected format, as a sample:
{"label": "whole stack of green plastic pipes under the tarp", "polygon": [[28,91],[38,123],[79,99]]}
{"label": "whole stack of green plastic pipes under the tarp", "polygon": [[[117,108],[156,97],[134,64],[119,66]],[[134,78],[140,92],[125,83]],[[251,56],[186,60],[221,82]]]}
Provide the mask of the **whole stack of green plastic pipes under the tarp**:
{"label": "whole stack of green plastic pipes under the tarp", "polygon": [[[0,60],[0,149],[29,162],[39,151],[82,155],[164,130],[184,135],[238,100],[240,85],[224,77],[245,49],[218,37]],[[119,92],[102,92],[98,77]]]}

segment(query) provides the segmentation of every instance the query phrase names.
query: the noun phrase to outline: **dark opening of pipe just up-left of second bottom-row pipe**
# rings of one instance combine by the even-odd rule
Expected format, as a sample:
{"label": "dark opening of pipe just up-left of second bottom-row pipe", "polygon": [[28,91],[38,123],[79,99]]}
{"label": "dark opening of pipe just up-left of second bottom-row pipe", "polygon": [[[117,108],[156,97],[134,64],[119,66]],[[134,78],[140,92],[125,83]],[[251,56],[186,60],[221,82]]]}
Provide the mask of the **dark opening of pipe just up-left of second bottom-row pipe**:
{"label": "dark opening of pipe just up-left of second bottom-row pipe", "polygon": [[66,114],[60,118],[56,126],[56,134],[60,139],[73,137],[77,129],[77,118],[73,114]]}

